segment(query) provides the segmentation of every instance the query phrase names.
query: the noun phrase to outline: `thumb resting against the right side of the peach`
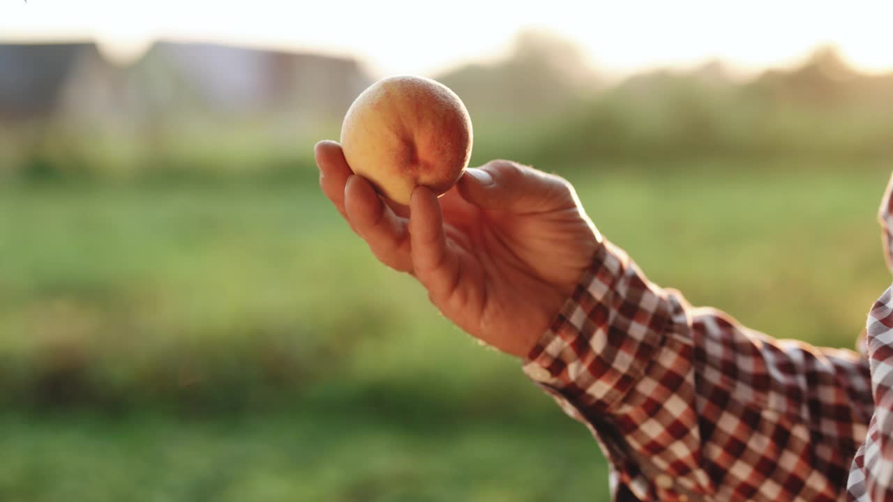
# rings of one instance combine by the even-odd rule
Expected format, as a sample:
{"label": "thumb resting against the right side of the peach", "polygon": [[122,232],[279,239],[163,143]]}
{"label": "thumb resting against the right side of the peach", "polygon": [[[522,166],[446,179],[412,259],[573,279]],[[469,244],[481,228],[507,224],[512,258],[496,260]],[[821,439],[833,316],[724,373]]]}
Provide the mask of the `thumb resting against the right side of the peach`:
{"label": "thumb resting against the right side of the peach", "polygon": [[482,209],[541,213],[576,205],[566,180],[510,161],[466,169],[457,186],[466,201]]}

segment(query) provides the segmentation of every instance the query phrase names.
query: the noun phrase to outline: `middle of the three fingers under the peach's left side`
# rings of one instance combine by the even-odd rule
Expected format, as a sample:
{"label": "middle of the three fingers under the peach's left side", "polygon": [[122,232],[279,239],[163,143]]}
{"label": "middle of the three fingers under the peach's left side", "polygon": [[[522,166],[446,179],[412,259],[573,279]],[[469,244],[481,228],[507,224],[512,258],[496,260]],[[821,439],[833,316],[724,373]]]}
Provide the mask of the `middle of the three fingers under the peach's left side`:
{"label": "middle of the three fingers under the peach's left side", "polygon": [[343,194],[346,217],[372,254],[400,272],[412,271],[406,221],[381,202],[371,183],[362,176],[350,176]]}

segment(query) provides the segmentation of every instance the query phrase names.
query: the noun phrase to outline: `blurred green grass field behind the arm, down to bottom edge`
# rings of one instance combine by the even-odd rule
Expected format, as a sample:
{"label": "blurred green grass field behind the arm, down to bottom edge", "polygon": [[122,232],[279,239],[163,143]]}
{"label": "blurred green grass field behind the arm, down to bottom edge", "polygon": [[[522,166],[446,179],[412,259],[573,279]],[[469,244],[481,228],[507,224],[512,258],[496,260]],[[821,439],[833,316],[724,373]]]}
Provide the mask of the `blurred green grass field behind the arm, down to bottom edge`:
{"label": "blurred green grass field behind the arm, down to bottom edge", "polygon": [[[588,432],[300,169],[0,185],[0,500],[606,499]],[[566,172],[652,280],[772,336],[852,347],[889,286],[889,166]]]}

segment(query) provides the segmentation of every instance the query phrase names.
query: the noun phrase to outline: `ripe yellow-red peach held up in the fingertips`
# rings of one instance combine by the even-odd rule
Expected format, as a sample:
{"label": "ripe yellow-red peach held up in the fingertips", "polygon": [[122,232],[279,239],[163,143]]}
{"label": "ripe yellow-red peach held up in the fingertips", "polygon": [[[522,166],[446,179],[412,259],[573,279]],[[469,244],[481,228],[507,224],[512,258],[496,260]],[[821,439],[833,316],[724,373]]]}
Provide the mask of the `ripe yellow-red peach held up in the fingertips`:
{"label": "ripe yellow-red peach held up in the fingertips", "polygon": [[472,119],[459,96],[431,79],[381,79],[358,96],[341,125],[347,164],[388,199],[409,204],[423,185],[442,195],[472,155]]}

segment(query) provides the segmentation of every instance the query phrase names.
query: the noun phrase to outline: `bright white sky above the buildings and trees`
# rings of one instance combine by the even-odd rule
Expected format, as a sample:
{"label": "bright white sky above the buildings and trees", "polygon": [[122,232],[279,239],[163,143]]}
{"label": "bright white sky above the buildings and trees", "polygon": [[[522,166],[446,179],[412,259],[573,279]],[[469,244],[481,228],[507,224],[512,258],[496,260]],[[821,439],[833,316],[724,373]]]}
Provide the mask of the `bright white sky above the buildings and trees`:
{"label": "bright white sky above the buildings and trees", "polygon": [[83,40],[127,61],[155,39],[352,55],[378,76],[435,74],[505,54],[519,29],[579,44],[608,77],[721,58],[741,73],[838,46],[864,71],[893,69],[893,2],[488,2],[452,0],[0,0],[0,40]]}

